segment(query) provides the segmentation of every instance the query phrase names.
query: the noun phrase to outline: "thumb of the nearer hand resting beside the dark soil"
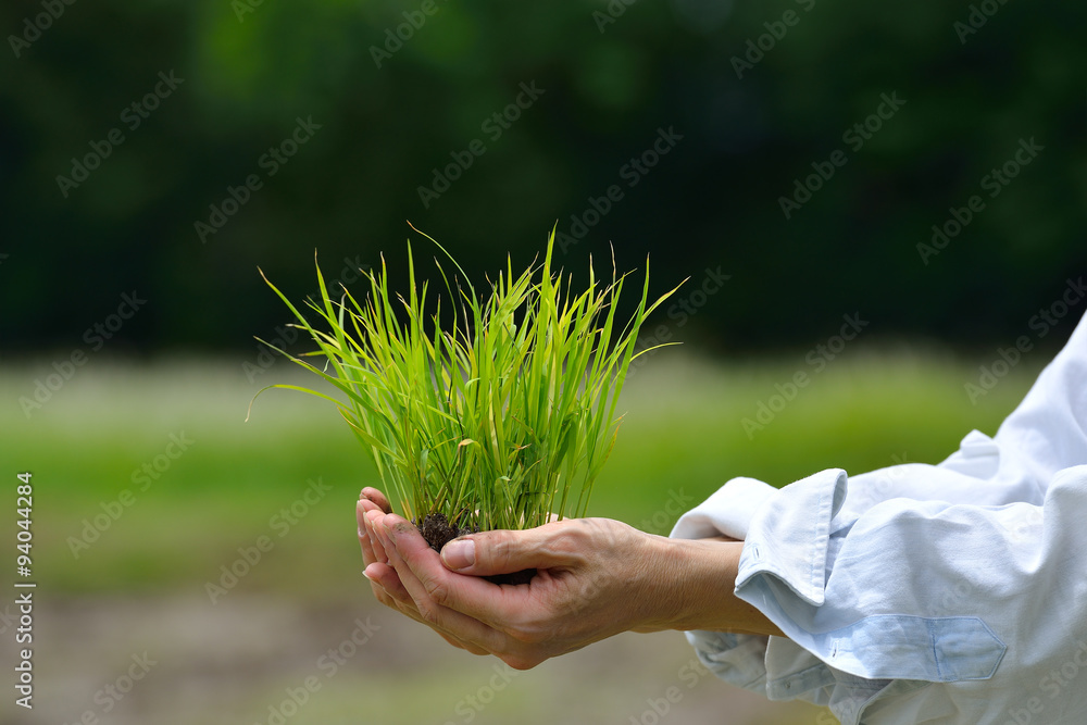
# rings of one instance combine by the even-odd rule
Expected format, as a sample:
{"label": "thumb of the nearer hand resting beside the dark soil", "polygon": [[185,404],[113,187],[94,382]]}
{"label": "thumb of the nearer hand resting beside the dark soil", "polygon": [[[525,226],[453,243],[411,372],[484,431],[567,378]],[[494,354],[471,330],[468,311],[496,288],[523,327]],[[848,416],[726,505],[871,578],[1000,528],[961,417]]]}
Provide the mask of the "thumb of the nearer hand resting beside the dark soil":
{"label": "thumb of the nearer hand resting beside the dark soil", "polygon": [[547,524],[522,532],[493,530],[453,539],[441,549],[446,568],[473,576],[512,574],[572,563],[554,547],[564,527]]}

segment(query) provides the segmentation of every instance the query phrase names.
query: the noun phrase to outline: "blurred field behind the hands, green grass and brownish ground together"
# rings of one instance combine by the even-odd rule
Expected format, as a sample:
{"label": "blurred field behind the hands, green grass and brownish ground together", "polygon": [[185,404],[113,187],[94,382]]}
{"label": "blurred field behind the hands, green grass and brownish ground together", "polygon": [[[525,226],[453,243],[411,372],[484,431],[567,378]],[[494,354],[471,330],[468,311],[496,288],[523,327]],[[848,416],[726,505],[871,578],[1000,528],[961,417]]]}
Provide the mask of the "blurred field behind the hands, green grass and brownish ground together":
{"label": "blurred field behind the hands, green grass and brownish ground together", "polygon": [[[742,364],[672,350],[654,355],[624,393],[627,417],[590,513],[666,534],[673,497],[700,501],[733,476],[780,486],[825,467],[860,473],[937,462],[971,429],[994,433],[1045,362],[1020,365],[974,405],[963,385],[976,377],[976,364],[905,347],[849,352],[819,373],[802,355]],[[488,682],[495,661],[448,648],[433,654],[438,640],[429,633],[373,605],[352,512],[359,488],[378,482],[347,426],[332,407],[286,391],[259,399],[243,422],[261,385],[299,372],[279,362],[250,382],[236,361],[92,359],[27,418],[17,400],[33,396],[50,362],[0,370],[2,475],[13,487],[16,473],[34,474],[35,575],[50,602],[46,621],[63,628],[90,612],[99,630],[113,622],[125,633],[96,639],[77,632],[64,641],[42,633],[42,652],[65,664],[42,654],[41,676],[74,692],[65,700],[100,708],[93,696],[104,679],[79,667],[123,661],[151,641],[177,650],[168,667],[179,678],[174,685],[188,683],[204,699],[178,704],[176,686],[163,679],[117,703],[111,722],[140,722],[160,708],[179,713],[157,718],[164,723],[267,722],[268,703],[312,672],[329,641],[350,633],[355,617],[373,616],[384,628],[382,647],[355,658],[345,667],[352,677],[329,683],[293,722],[466,722],[455,704]],[[810,384],[786,401],[798,371]],[[744,418],[758,422],[761,403],[764,427],[746,429]],[[238,564],[261,546],[259,563]],[[236,584],[221,568],[232,565],[248,570]],[[210,595],[209,583],[223,591]],[[134,632],[143,639],[133,640]],[[179,632],[205,645],[186,649]],[[512,722],[522,708],[525,723],[637,720],[638,702],[675,680],[690,651],[675,634],[630,637],[517,675],[501,702],[471,720]],[[585,676],[613,666],[613,676]],[[584,704],[557,715],[548,704],[555,688],[563,701]],[[719,722],[722,702],[742,700],[723,685],[697,695],[675,722]],[[744,722],[800,712],[751,707]],[[80,708],[46,712],[75,722]],[[816,722],[817,711],[803,712]]]}

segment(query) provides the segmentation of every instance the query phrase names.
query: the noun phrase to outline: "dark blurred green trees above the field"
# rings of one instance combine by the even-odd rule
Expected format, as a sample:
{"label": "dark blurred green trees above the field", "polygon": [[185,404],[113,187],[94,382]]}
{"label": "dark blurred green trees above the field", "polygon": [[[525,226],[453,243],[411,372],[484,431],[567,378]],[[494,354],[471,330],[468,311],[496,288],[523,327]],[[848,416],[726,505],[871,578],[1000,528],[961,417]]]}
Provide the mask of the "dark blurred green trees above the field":
{"label": "dark blurred green trees above the field", "polygon": [[609,245],[690,290],[720,268],[666,321],[733,348],[858,307],[1000,339],[1087,262],[1085,21],[1063,0],[5,3],[2,353],[78,343],[134,287],[126,343],[248,348],[285,322],[258,264],[297,298],[314,248],[332,275],[376,265],[405,220],[468,270],[527,264],[555,221],[566,268]]}

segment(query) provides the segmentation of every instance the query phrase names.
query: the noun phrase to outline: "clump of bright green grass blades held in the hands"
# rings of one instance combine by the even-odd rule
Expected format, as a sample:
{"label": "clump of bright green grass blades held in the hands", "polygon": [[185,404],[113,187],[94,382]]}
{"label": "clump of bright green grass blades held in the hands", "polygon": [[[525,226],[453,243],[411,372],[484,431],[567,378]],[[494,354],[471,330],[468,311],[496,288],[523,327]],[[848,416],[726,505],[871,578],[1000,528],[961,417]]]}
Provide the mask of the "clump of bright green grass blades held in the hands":
{"label": "clump of bright green grass blades held in the hands", "polygon": [[[428,307],[410,243],[407,299],[390,295],[384,257],[379,272],[363,271],[361,301],[347,288],[330,293],[317,266],[321,299],[307,300],[305,314],[268,282],[317,349],[296,357],[261,341],[335,391],[272,385],[257,395],[285,388],[335,404],[416,523],[442,514],[466,529],[520,529],[551,513],[584,516],[619,433],[624,378],[655,349],[636,349],[642,322],[675,289],[650,302],[647,268],[637,310],[616,320],[627,275],[613,259],[611,278],[601,280],[590,261],[588,288],[573,290],[572,277],[564,283],[552,268],[552,230],[542,264],[515,274],[508,260],[480,297],[427,239],[463,279],[451,284],[436,262],[445,310],[441,298]],[[307,360],[314,357],[324,359],[320,366]]]}

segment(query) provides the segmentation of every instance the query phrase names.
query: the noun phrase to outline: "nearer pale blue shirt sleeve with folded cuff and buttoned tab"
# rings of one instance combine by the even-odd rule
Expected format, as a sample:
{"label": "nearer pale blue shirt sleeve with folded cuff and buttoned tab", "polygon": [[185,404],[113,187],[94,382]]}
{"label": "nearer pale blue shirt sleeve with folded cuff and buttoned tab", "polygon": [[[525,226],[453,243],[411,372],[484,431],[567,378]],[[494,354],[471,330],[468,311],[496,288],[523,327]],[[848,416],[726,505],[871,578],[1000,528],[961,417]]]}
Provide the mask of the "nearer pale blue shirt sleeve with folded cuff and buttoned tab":
{"label": "nearer pale blue shirt sleeve with folded cuff and buttoned tab", "polygon": [[[1087,690],[1057,679],[1066,662],[1087,666],[1074,574],[1087,566],[1087,465],[1054,475],[1042,505],[897,499],[855,517],[846,493],[844,472],[823,472],[751,522],[737,595],[788,636],[763,646],[758,689],[851,725],[1002,723],[1025,707],[1084,722]],[[751,665],[752,642],[698,635],[711,670],[744,686],[728,675]]]}

